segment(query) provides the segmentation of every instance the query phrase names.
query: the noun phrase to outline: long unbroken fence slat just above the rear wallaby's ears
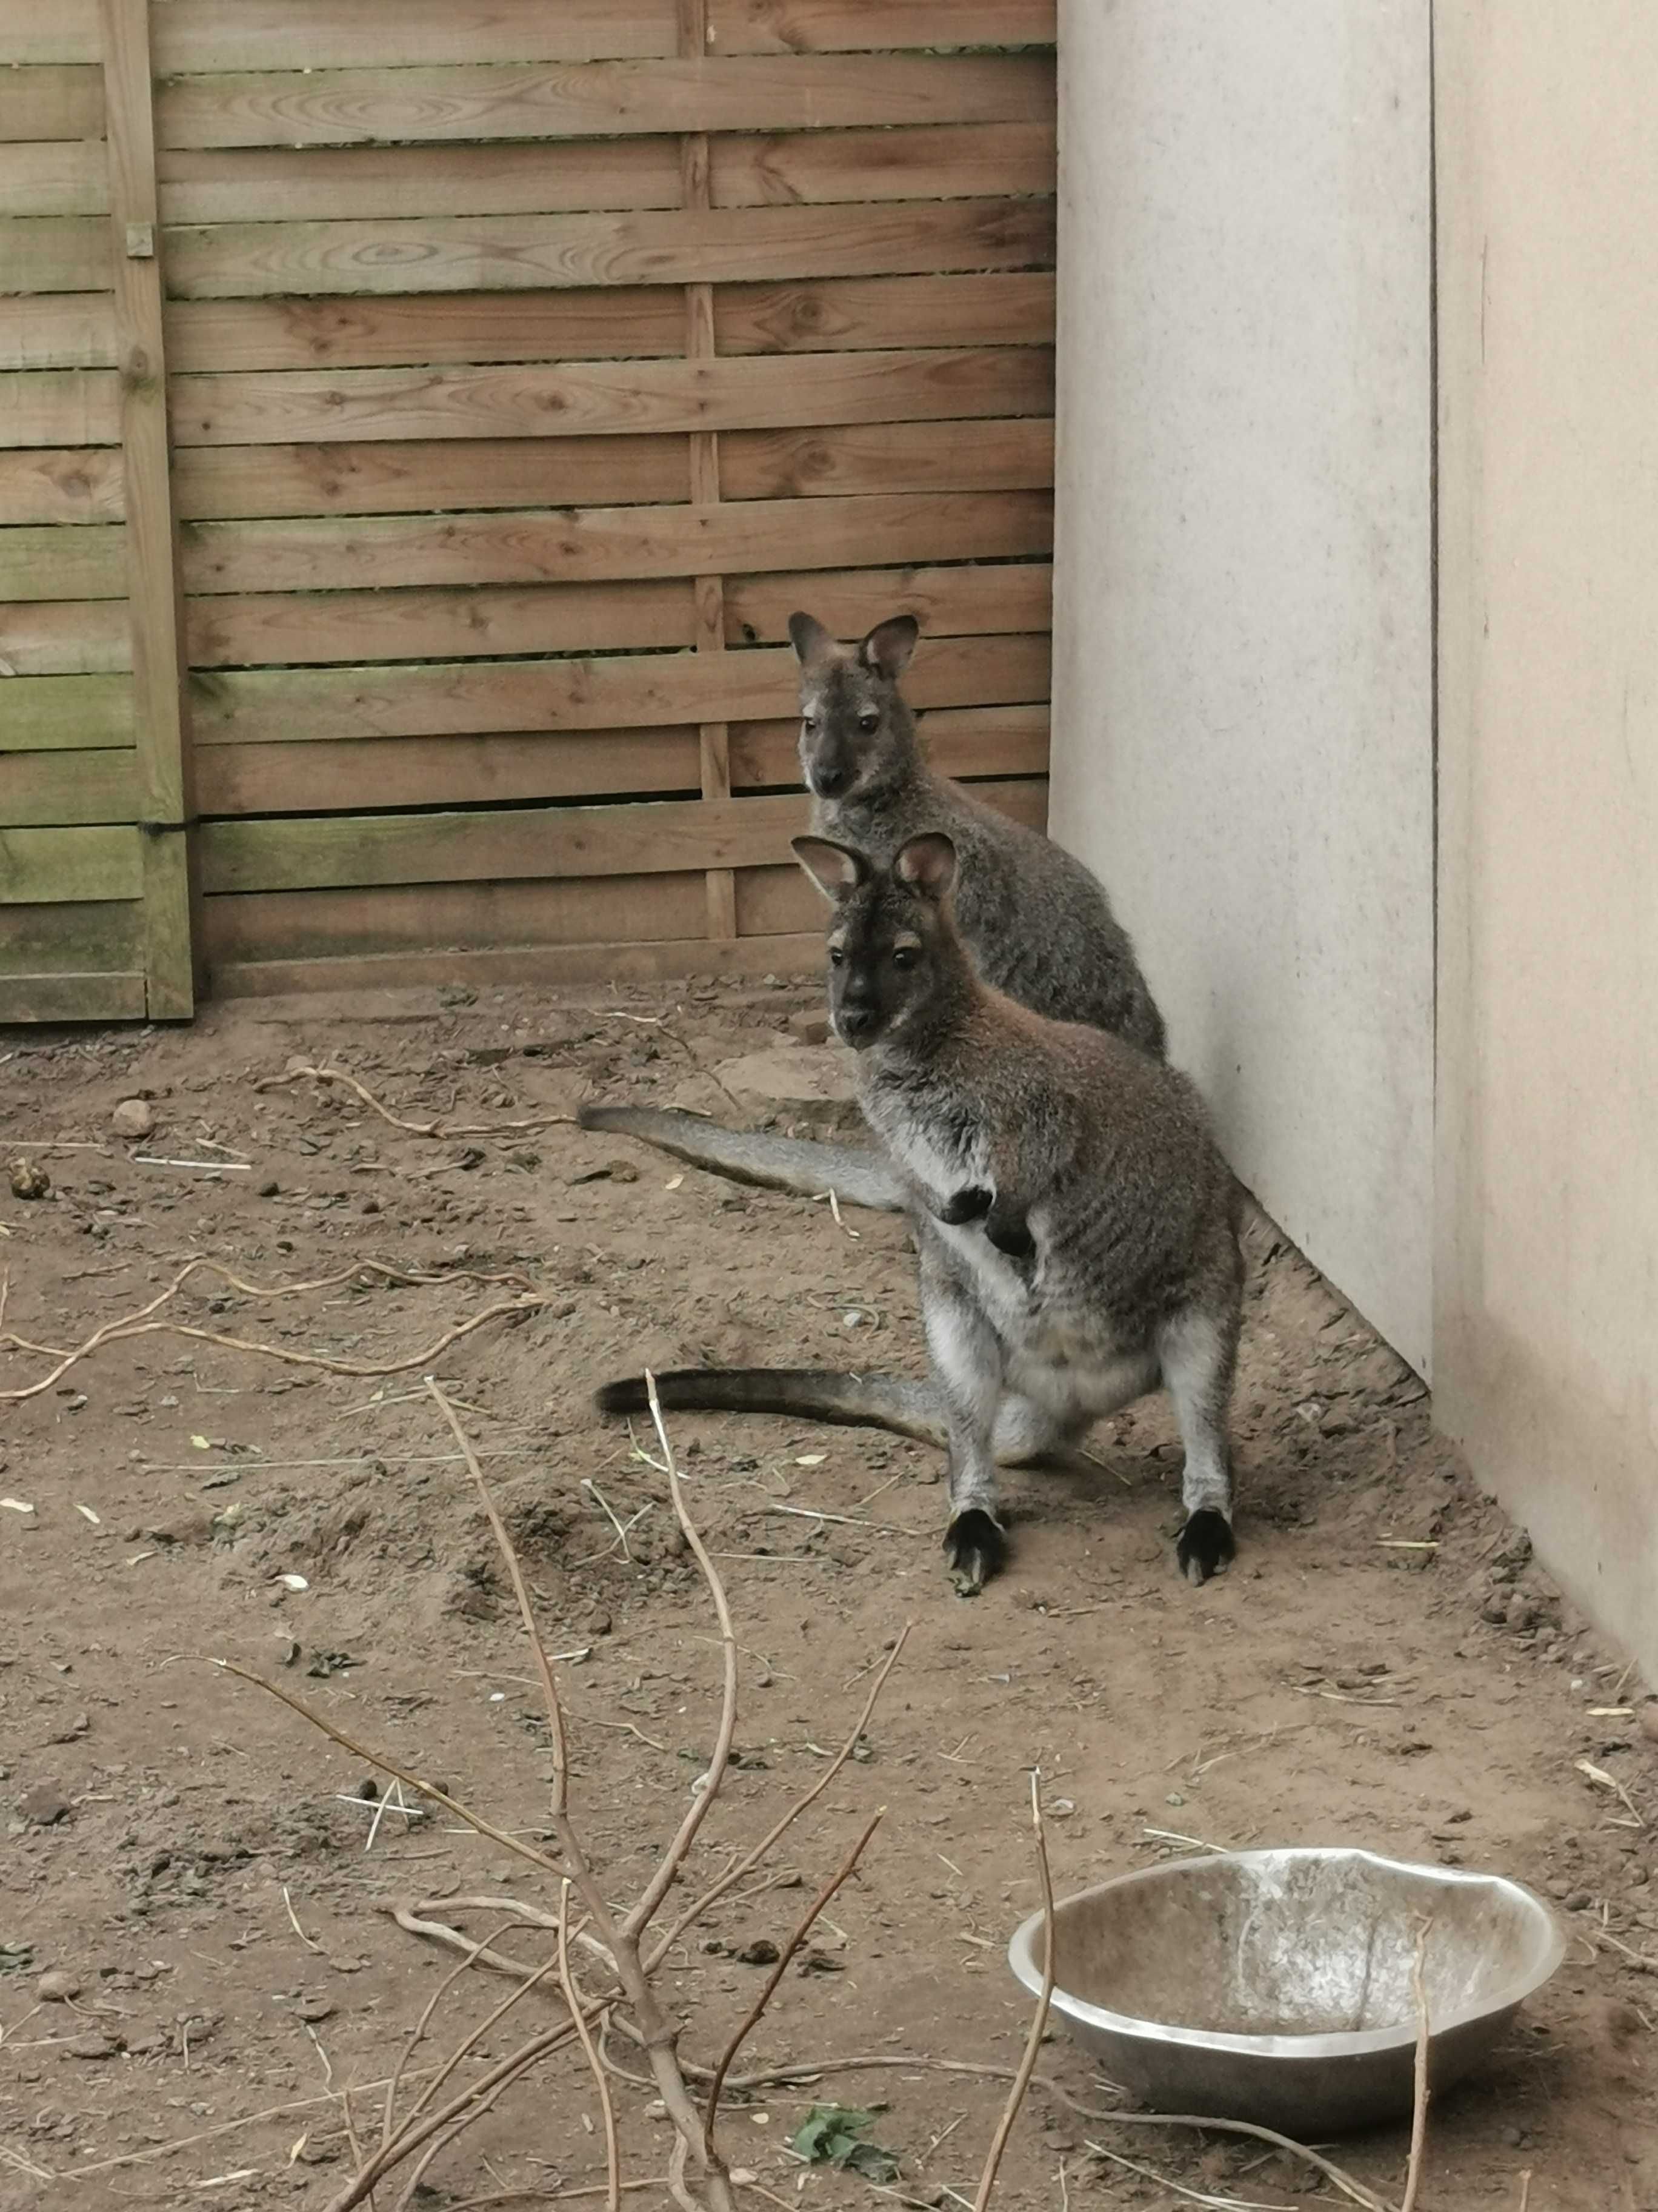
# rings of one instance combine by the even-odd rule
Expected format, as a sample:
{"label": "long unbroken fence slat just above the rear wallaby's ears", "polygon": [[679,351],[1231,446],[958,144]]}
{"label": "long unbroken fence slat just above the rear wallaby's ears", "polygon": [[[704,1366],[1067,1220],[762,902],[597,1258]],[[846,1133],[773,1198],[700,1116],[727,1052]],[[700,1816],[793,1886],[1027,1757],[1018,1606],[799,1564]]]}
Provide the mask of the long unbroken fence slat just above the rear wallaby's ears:
{"label": "long unbroken fence slat just above the rear wallaby's ears", "polygon": [[1043,491],[906,491],[858,500],[588,507],[566,513],[192,522],[183,580],[212,591],[349,591],[725,575],[802,560],[995,560],[1048,553]]}

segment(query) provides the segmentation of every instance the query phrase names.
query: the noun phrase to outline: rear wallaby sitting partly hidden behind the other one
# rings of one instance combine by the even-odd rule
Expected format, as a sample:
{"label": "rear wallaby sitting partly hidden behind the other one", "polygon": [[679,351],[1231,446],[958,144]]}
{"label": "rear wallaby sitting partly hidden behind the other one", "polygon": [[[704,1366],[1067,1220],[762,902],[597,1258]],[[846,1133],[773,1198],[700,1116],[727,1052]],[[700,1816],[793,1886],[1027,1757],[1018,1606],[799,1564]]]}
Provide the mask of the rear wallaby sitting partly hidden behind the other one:
{"label": "rear wallaby sitting partly hidden behind the other one", "polygon": [[[1063,845],[926,765],[898,690],[915,617],[893,615],[842,646],[811,615],[789,615],[789,637],[800,657],[800,768],[814,832],[878,867],[924,830],[944,832],[962,856],[957,927],[979,973],[1035,1013],[1088,1022],[1161,1057],[1163,1015],[1096,878]],[[661,1106],[584,1106],[579,1121],[769,1190],[833,1190],[891,1212],[906,1203],[891,1161],[862,1146],[725,1130]]]}

